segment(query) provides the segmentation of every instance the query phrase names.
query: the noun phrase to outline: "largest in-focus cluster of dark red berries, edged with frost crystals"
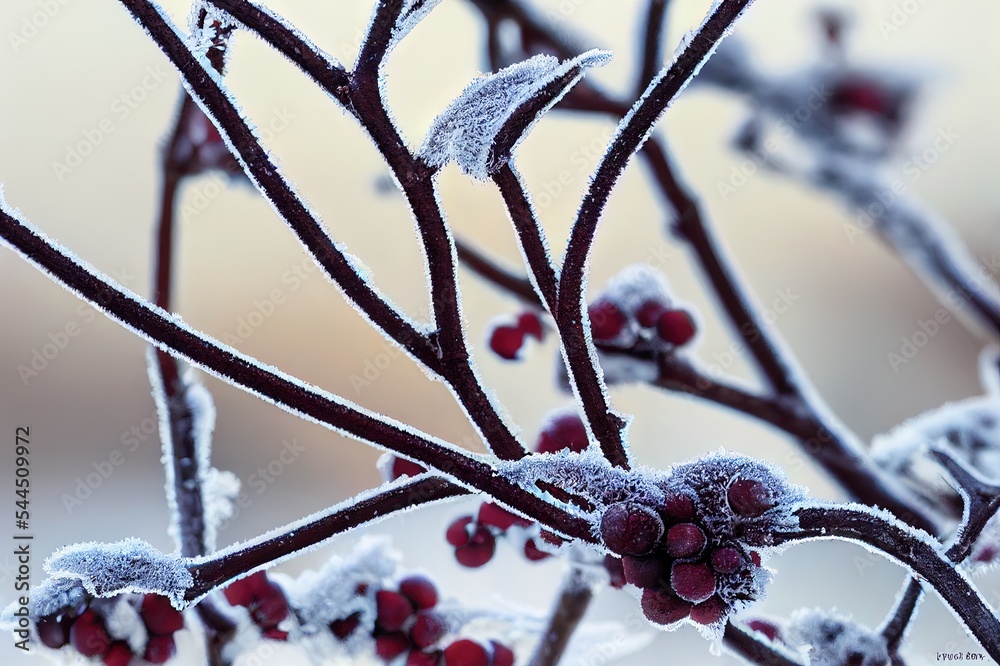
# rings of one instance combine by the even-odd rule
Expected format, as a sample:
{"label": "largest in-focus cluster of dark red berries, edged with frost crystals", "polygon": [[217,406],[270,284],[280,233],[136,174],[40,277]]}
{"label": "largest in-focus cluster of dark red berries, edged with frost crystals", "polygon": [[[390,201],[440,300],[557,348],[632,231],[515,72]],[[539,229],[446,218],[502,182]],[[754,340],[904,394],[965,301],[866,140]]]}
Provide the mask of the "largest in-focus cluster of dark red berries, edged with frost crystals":
{"label": "largest in-focus cluster of dark red berries, edged with frost crystals", "polygon": [[[756,479],[733,480],[726,500],[737,522],[759,518],[774,507],[767,487]],[[717,625],[734,601],[745,600],[756,587],[760,555],[733,534],[713,529],[719,522],[699,511],[699,504],[688,495],[667,492],[659,506],[620,502],[602,516],[604,544],[621,556],[605,560],[612,584],[641,588],[643,613],[657,624],[690,618]]]}

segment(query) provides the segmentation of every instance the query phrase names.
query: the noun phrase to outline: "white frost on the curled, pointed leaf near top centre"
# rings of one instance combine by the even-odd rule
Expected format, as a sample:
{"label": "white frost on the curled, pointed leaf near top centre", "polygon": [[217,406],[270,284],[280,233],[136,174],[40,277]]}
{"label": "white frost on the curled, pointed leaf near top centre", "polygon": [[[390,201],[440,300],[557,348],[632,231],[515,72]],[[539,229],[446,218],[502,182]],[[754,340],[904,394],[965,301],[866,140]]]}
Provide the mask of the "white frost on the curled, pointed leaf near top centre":
{"label": "white frost on the curled, pointed leaf near top centre", "polygon": [[464,173],[480,180],[487,179],[501,166],[491,160],[494,140],[519,108],[534,99],[554,80],[575,69],[579,70],[558,94],[548,100],[545,108],[536,114],[515,145],[531,131],[531,127],[546,110],[576,85],[582,78],[584,69],[602,66],[610,59],[610,53],[598,50],[587,51],[563,63],[553,56],[543,54],[479,77],[435,118],[420,147],[420,157],[436,167],[455,160]]}

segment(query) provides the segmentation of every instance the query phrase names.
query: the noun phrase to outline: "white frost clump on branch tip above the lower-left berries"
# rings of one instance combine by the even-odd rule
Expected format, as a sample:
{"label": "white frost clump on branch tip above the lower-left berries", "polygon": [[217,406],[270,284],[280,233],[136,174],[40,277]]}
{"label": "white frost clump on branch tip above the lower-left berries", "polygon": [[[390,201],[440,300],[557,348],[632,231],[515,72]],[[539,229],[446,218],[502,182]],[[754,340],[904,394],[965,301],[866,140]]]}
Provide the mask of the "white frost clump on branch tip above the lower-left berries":
{"label": "white frost clump on branch tip above the lower-left berries", "polygon": [[168,597],[178,610],[185,607],[184,591],[193,584],[183,560],[164,555],[140,539],[66,546],[45,561],[45,570],[54,576],[79,578],[96,597],[153,592]]}

